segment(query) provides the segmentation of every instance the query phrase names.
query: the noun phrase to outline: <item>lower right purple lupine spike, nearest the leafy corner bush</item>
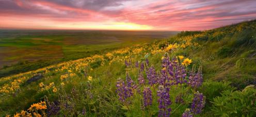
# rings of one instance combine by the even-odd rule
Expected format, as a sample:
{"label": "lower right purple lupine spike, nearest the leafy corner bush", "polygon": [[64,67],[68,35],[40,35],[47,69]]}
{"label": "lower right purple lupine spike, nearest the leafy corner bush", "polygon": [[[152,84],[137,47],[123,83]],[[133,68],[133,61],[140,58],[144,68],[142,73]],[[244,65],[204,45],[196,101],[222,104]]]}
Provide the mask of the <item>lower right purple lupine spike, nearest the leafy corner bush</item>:
{"label": "lower right purple lupine spike, nearest the leafy corner bush", "polygon": [[193,114],[201,113],[202,109],[204,107],[204,104],[205,104],[205,100],[204,100],[203,94],[199,93],[199,91],[197,91],[194,94],[194,99],[191,104],[191,109],[190,109],[191,113],[193,113]]}

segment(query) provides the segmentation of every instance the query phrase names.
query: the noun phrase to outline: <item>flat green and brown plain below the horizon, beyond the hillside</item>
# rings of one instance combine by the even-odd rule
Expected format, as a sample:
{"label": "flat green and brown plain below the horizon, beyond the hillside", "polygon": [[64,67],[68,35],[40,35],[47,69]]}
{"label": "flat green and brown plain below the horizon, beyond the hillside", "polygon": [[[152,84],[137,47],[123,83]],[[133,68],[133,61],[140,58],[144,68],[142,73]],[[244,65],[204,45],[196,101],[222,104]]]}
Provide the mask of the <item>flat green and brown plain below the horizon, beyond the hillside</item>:
{"label": "flat green and brown plain below the horizon, beyond the hillside", "polygon": [[133,44],[174,31],[0,30],[0,77]]}

